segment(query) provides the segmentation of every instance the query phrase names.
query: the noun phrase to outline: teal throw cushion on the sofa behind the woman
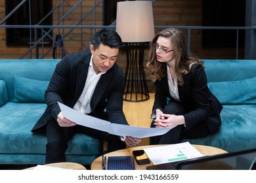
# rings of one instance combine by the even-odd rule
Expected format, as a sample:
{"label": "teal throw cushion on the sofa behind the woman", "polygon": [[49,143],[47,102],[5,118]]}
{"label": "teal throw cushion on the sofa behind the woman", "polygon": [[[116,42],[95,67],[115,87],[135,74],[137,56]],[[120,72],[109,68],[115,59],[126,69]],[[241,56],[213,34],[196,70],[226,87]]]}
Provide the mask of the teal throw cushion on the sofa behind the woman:
{"label": "teal throw cushion on the sofa behind the woman", "polygon": [[211,92],[223,105],[256,104],[256,77],[229,82],[209,82]]}

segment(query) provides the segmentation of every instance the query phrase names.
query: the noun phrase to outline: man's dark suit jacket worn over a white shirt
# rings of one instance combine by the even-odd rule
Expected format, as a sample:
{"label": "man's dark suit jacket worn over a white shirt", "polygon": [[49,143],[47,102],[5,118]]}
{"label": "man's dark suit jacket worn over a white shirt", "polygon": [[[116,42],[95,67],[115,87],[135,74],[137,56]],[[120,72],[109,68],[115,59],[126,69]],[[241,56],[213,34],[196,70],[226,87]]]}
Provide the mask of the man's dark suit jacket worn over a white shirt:
{"label": "man's dark suit jacket worn over a white shirt", "polygon": [[[32,131],[56,120],[60,112],[57,102],[73,108],[79,99],[89,69],[90,52],[75,52],[65,56],[57,65],[45,92],[47,108]],[[91,108],[96,118],[116,124],[127,124],[123,114],[124,79],[122,69],[115,63],[96,85],[91,99]]]}

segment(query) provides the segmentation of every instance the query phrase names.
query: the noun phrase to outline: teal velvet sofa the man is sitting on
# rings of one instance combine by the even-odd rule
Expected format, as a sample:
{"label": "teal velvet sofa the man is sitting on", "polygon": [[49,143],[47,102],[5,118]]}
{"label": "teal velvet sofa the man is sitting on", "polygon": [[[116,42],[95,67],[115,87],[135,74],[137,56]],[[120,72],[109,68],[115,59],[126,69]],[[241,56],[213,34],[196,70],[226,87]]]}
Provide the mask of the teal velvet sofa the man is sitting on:
{"label": "teal velvet sofa the man is sitting on", "polygon": [[[32,133],[43,114],[45,90],[60,59],[0,59],[0,165],[43,164],[47,138]],[[68,144],[67,161],[90,165],[102,142],[77,134]]]}

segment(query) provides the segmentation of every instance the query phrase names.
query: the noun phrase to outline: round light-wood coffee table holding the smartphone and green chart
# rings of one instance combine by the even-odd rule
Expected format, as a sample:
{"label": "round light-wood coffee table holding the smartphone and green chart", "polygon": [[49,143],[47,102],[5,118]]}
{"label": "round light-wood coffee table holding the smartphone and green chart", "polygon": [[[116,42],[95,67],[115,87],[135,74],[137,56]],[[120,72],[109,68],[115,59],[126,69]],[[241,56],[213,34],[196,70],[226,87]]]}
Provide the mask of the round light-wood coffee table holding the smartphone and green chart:
{"label": "round light-wood coffee table holding the smartphone and green chart", "polygon": [[[161,146],[161,145],[137,146],[137,147],[133,147],[133,148],[126,148],[123,150],[117,150],[114,152],[110,152],[108,154],[104,154],[104,156],[106,156],[106,167],[108,167],[108,156],[133,156],[133,150],[142,150],[145,148],[152,148],[155,146]],[[213,155],[217,155],[217,154],[228,153],[225,150],[222,150],[220,148],[215,148],[212,146],[203,146],[203,145],[194,145],[194,144],[192,144],[192,146],[194,146],[194,148],[196,148],[199,152],[201,152],[203,154],[203,156],[213,156]],[[153,165],[153,163],[150,162],[150,164],[138,165],[135,162],[135,169],[136,170],[146,170],[146,167],[148,167],[149,165]],[[91,164],[91,169],[92,170],[102,170],[102,156],[96,158],[93,161],[93,163]]]}

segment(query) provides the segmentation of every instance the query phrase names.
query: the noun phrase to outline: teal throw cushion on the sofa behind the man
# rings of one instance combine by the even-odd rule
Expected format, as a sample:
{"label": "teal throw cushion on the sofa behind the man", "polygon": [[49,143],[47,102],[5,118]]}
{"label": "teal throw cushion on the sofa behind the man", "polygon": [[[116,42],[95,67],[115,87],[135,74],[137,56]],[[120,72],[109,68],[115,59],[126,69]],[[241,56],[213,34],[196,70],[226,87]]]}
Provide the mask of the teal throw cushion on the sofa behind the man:
{"label": "teal throw cushion on the sofa behind the man", "polygon": [[15,103],[45,103],[45,90],[49,81],[14,76]]}

